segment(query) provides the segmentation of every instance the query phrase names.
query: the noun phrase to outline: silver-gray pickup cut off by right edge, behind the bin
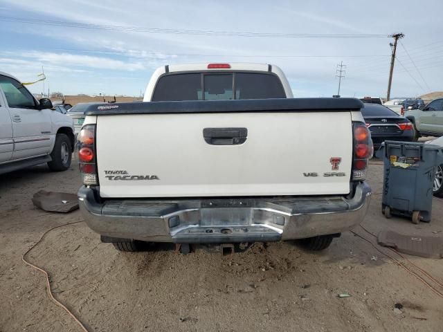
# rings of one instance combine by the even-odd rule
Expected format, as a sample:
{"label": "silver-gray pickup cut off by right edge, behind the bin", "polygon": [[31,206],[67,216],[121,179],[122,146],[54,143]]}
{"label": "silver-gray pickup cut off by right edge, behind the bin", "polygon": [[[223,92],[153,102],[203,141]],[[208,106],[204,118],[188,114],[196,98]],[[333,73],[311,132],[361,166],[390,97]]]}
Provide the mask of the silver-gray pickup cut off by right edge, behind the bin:
{"label": "silver-gray pickup cut off by right edge, behind the bin", "polygon": [[421,109],[408,109],[405,116],[413,122],[416,136],[443,136],[443,98]]}

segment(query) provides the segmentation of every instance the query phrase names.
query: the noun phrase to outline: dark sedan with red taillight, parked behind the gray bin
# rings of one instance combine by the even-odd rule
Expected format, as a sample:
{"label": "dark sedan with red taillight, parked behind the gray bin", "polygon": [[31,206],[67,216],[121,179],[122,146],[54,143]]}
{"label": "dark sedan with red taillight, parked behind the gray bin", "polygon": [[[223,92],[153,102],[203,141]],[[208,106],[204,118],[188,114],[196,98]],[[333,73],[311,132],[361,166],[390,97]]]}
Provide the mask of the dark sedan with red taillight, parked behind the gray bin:
{"label": "dark sedan with red taillight, parked behind the gray bin", "polygon": [[371,132],[374,148],[379,148],[385,140],[414,140],[413,124],[403,116],[383,105],[365,104],[361,109],[366,126]]}

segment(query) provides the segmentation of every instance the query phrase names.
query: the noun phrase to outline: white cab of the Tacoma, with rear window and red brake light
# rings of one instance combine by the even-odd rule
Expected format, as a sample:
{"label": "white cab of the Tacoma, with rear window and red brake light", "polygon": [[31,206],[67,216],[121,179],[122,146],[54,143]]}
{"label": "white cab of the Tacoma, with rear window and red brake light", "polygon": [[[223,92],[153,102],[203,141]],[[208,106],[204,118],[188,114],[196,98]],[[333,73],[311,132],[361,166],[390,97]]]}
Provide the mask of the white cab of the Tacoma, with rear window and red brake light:
{"label": "white cab of the Tacoma, with rear window and red brake light", "polygon": [[154,71],[143,101],[268,98],[293,98],[289,82],[278,66],[175,64]]}

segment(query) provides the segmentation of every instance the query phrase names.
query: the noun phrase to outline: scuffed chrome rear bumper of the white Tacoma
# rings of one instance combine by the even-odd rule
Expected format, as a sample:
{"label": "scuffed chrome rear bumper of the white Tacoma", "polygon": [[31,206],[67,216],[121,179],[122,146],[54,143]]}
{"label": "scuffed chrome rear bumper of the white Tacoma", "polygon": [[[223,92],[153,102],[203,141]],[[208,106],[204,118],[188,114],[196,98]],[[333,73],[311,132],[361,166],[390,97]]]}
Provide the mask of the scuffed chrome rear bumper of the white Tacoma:
{"label": "scuffed chrome rear bumper of the white Tacoma", "polygon": [[108,200],[81,187],[87,225],[105,237],[174,243],[235,243],[304,239],[336,234],[363,221],[370,203],[366,183],[352,197],[304,196],[179,200]]}

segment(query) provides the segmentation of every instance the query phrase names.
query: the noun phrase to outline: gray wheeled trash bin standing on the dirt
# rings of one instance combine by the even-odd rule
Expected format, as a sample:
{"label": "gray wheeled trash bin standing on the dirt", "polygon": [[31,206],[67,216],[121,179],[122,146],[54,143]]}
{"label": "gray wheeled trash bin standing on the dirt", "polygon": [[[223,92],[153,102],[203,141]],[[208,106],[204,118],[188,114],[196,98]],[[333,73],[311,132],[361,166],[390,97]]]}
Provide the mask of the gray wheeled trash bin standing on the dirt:
{"label": "gray wheeled trash bin standing on the dirt", "polygon": [[441,147],[422,142],[387,140],[377,152],[383,158],[382,211],[411,217],[413,223],[431,221],[437,152]]}

